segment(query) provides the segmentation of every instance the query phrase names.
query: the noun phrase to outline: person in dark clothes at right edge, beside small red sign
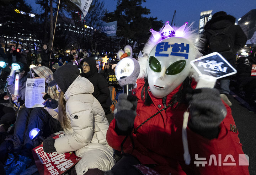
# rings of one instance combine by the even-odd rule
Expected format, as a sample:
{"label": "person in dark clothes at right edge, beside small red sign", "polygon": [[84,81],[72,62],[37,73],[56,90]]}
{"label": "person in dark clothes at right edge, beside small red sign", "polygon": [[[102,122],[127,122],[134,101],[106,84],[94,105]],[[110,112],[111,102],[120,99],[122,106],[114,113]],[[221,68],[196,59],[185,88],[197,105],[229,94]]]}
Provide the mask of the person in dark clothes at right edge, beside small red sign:
{"label": "person in dark clothes at right edge, beside small red sign", "polygon": [[239,91],[243,92],[250,105],[256,106],[256,72],[253,72],[253,65],[256,65],[256,48],[252,49],[249,56],[239,58],[236,65]]}

